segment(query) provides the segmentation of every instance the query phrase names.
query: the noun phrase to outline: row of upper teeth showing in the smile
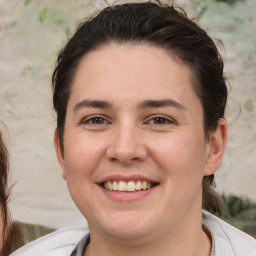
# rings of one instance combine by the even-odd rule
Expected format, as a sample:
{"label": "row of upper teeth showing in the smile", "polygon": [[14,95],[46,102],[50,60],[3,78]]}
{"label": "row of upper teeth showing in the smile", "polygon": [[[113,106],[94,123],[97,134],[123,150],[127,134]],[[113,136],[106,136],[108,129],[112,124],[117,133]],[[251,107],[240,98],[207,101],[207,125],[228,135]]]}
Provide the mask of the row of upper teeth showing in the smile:
{"label": "row of upper teeth showing in the smile", "polygon": [[103,187],[113,191],[136,191],[146,190],[151,188],[153,185],[147,181],[107,181],[103,183]]}

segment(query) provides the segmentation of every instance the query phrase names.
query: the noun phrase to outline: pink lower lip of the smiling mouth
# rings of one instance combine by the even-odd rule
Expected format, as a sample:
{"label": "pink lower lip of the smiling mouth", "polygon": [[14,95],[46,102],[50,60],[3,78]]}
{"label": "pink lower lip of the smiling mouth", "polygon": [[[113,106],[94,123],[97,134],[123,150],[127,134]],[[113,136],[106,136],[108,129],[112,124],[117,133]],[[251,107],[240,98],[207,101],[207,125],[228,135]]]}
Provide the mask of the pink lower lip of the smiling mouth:
{"label": "pink lower lip of the smiling mouth", "polygon": [[117,201],[137,201],[139,199],[147,197],[150,193],[152,193],[158,186],[154,186],[147,190],[139,190],[134,192],[119,192],[119,191],[111,191],[99,186],[103,193],[114,200]]}

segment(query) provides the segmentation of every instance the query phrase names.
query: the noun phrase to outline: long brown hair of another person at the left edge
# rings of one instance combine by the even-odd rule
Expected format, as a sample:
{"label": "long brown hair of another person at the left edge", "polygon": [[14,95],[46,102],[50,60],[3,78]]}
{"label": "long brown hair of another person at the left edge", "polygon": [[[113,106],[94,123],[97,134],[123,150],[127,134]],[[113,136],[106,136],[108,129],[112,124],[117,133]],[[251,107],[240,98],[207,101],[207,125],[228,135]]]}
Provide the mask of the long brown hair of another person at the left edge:
{"label": "long brown hair of another person at the left edge", "polygon": [[0,251],[0,255],[9,255],[11,248],[11,219],[8,210],[8,151],[3,141],[0,131],[0,217],[1,217],[1,232],[2,232],[2,244],[3,249]]}

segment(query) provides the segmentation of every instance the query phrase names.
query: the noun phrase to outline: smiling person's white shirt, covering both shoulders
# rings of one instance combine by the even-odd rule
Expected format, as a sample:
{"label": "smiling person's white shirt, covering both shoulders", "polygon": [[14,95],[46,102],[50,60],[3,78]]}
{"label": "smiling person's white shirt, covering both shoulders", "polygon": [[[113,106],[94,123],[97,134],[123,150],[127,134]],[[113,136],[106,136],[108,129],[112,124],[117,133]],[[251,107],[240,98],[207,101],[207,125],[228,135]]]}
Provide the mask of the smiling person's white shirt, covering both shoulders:
{"label": "smiling person's white shirt, covering both shoulders", "polygon": [[[256,256],[256,240],[203,211],[203,224],[212,234],[214,256]],[[18,249],[10,256],[70,256],[88,233],[80,227],[57,230]]]}

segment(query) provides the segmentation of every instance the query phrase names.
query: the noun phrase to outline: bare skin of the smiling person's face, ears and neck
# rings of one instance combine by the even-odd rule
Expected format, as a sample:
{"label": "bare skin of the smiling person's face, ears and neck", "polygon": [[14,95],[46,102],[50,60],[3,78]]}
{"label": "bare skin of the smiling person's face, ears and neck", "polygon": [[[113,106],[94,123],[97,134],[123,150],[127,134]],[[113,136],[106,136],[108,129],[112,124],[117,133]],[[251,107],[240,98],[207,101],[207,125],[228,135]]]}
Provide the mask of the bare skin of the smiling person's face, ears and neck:
{"label": "bare skin of the smiling person's face, ears and neck", "polygon": [[[111,44],[85,55],[67,105],[64,153],[55,132],[63,176],[90,229],[85,255],[209,255],[202,179],[218,169],[225,142],[223,119],[206,139],[190,69],[164,49]],[[111,175],[157,186],[139,198],[113,197],[99,185]]]}

